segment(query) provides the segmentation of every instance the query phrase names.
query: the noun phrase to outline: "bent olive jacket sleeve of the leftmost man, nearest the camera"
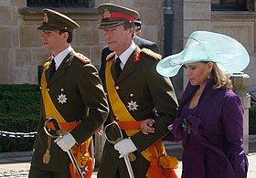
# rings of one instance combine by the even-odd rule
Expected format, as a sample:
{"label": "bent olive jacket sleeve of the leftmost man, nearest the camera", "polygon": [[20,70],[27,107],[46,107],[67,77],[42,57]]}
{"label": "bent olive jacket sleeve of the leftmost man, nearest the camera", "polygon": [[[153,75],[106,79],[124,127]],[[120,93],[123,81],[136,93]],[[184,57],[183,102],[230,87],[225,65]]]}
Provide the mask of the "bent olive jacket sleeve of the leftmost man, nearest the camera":
{"label": "bent olive jacket sleeve of the leftmost man, nearest the camera", "polygon": [[80,125],[70,133],[78,143],[82,143],[101,127],[108,115],[109,107],[97,69],[87,64],[78,71],[78,75],[80,96],[88,110],[85,110],[87,114]]}

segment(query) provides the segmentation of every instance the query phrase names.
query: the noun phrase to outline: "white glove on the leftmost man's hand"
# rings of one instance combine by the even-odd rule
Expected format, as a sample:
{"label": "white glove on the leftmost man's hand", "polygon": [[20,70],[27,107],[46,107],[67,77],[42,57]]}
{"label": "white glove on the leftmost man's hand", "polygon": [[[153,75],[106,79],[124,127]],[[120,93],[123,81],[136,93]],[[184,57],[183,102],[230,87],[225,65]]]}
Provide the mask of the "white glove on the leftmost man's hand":
{"label": "white glove on the leftmost man's hand", "polygon": [[76,140],[68,132],[62,137],[58,137],[57,139],[55,139],[54,142],[56,142],[64,152],[68,152],[70,148],[76,143]]}

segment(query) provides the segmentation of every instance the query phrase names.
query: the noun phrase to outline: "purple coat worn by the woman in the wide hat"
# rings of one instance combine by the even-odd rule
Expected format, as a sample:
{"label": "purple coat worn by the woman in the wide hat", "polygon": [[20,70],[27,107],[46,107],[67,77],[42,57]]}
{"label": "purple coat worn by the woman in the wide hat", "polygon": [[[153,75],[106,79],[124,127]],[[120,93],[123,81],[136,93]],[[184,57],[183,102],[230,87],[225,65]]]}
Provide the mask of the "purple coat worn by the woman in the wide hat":
{"label": "purple coat worn by the woman in the wide hat", "polygon": [[198,86],[185,90],[175,122],[168,127],[183,141],[183,178],[245,178],[243,107],[231,89],[212,89],[208,79],[195,109],[188,109]]}

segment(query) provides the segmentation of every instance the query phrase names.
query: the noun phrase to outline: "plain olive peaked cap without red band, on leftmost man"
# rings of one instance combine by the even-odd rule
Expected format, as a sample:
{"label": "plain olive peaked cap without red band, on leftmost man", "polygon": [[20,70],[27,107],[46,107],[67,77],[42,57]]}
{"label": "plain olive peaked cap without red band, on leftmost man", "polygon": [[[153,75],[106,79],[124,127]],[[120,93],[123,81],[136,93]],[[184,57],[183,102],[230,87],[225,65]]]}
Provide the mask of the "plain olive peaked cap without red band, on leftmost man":
{"label": "plain olive peaked cap without red band, on leftmost man", "polygon": [[38,30],[64,29],[72,32],[74,28],[80,27],[69,16],[65,16],[57,11],[45,8],[42,12],[44,14],[44,21],[41,26],[37,27]]}

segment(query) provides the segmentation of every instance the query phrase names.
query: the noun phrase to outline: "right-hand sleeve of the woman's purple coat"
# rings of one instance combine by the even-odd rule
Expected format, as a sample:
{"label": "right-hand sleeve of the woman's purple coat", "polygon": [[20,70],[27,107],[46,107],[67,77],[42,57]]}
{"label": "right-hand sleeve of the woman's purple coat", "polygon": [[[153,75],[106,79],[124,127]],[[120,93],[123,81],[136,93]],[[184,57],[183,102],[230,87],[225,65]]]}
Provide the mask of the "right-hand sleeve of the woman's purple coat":
{"label": "right-hand sleeve of the woman's purple coat", "polygon": [[236,95],[229,97],[223,108],[223,128],[226,136],[226,155],[237,174],[246,177],[248,160],[243,150],[243,107]]}

